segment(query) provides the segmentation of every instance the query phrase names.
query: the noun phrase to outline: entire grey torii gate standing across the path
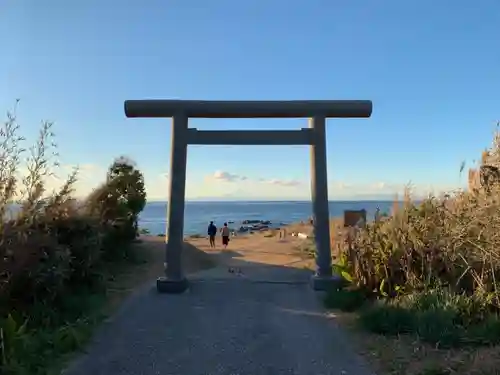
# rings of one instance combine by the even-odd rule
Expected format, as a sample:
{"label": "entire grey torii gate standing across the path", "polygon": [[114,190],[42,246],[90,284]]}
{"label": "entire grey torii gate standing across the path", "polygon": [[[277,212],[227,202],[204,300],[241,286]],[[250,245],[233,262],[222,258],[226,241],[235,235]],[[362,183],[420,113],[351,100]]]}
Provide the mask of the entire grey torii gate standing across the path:
{"label": "entire grey torii gate standing across the path", "polygon": [[[181,263],[184,241],[184,205],[188,145],[309,145],[311,148],[311,195],[316,241],[316,273],[311,285],[325,290],[338,281],[332,275],[330,215],[326,167],[327,118],[370,117],[369,100],[202,101],[127,100],[127,117],[171,117],[170,197],[165,276],[158,278],[163,293],[182,293],[188,288]],[[309,118],[301,130],[197,130],[189,118]]]}

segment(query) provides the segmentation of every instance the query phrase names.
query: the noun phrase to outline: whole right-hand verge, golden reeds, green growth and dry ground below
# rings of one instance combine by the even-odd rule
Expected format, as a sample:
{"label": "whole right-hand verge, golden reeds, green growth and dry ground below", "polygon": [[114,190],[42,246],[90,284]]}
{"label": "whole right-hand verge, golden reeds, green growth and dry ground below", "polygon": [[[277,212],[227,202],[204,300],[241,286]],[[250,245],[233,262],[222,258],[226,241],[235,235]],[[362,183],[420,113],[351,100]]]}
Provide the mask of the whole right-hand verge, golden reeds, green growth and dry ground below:
{"label": "whole right-hand verge, golden reeds, green growth and dry ground below", "polygon": [[[361,297],[365,308],[339,313],[339,321],[380,374],[500,373],[500,133],[482,163],[492,175],[483,178],[480,167],[474,189],[419,204],[407,190],[390,217],[352,233],[352,246],[345,231],[332,235],[337,267],[358,299],[378,298]],[[346,304],[356,302],[342,293]]]}

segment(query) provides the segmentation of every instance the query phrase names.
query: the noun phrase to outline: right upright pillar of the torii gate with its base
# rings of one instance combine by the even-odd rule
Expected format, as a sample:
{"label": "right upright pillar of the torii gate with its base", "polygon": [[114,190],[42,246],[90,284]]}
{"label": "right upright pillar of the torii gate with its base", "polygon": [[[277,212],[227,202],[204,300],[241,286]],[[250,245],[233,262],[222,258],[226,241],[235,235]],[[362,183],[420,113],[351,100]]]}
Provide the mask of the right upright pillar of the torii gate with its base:
{"label": "right upright pillar of the torii gate with its base", "polygon": [[341,281],[340,277],[332,272],[325,125],[325,116],[316,115],[309,119],[309,128],[313,131],[313,142],[310,146],[311,196],[316,242],[316,273],[311,279],[311,286],[314,290],[323,291]]}

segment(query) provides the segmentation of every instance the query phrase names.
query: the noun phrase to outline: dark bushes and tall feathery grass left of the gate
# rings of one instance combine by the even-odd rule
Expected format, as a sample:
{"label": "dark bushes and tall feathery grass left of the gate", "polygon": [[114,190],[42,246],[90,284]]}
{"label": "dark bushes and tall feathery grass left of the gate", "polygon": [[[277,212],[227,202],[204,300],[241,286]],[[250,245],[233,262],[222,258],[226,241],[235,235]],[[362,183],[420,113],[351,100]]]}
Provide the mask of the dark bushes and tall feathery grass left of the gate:
{"label": "dark bushes and tall feathery grass left of the gate", "polygon": [[142,174],[122,162],[83,202],[73,197],[77,169],[48,191],[58,167],[52,124],[28,148],[19,132],[8,113],[0,127],[0,373],[43,374],[88,337],[97,317],[86,312],[100,303],[107,270],[129,254],[145,194]]}

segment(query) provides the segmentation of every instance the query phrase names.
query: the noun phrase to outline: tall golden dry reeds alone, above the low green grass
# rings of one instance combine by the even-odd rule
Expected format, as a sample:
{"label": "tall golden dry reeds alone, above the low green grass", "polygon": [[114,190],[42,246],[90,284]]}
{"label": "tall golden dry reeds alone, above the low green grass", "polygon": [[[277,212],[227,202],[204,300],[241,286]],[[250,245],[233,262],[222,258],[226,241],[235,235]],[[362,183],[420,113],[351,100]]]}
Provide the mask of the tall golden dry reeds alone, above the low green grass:
{"label": "tall golden dry reeds alone, above the low green grass", "polygon": [[377,290],[383,284],[384,293],[393,294],[398,287],[444,284],[488,296],[500,307],[500,186],[429,197],[418,205],[407,197],[394,211],[342,248],[360,286]]}

